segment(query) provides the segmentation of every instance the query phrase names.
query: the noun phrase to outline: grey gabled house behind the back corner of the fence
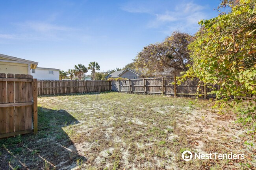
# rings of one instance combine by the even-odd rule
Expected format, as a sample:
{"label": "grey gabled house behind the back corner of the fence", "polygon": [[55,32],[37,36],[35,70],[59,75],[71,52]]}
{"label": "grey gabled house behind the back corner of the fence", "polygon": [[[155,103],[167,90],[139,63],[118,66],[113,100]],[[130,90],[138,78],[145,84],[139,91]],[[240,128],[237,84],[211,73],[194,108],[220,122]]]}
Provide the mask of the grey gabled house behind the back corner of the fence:
{"label": "grey gabled house behind the back corner of the fence", "polygon": [[106,76],[106,79],[109,78],[118,78],[118,77],[122,77],[124,79],[139,79],[141,78],[141,74],[137,73],[135,70],[132,69],[125,69],[125,70],[120,70],[120,71],[115,71],[114,73],[111,73],[110,75]]}

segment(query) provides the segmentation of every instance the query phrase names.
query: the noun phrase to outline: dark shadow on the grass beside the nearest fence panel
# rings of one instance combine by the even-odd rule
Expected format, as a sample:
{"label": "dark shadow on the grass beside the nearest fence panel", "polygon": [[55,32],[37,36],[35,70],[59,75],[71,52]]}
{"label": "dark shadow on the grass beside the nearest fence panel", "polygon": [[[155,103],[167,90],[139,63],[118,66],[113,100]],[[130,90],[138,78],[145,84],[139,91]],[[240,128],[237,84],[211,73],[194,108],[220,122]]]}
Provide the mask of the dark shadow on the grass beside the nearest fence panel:
{"label": "dark shadow on the grass beside the nearest fence panel", "polygon": [[0,169],[71,169],[87,159],[64,132],[80,123],[65,110],[38,107],[38,133],[0,139]]}

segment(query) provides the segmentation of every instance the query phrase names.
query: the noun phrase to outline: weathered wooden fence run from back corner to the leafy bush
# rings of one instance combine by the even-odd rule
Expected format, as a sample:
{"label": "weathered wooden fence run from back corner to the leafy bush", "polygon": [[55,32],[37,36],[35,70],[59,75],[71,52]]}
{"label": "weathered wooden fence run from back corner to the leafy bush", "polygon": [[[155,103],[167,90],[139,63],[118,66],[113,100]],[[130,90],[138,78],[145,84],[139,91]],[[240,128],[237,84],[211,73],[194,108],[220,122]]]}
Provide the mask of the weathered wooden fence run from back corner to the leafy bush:
{"label": "weathered wooden fence run from back corner to the leafy bush", "polygon": [[[177,85],[176,78],[158,78],[158,79],[129,79],[112,81],[113,91],[119,91],[124,93],[141,93],[141,94],[166,94],[173,96],[187,96],[195,95],[199,79],[187,79],[181,85]],[[204,96],[204,98],[214,97],[213,95],[207,95],[210,88],[207,88],[204,84],[199,84],[198,95]]]}

